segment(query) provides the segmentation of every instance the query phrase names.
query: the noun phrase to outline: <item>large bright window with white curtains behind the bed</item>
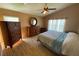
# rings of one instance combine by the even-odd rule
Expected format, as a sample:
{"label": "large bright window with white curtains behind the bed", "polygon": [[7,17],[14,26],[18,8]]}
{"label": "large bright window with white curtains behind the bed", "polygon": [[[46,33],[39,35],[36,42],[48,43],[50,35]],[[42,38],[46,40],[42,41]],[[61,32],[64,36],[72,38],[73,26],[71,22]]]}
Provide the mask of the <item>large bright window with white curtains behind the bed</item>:
{"label": "large bright window with white curtains behind the bed", "polygon": [[49,20],[48,30],[55,30],[55,31],[63,32],[64,24],[65,24],[65,19]]}

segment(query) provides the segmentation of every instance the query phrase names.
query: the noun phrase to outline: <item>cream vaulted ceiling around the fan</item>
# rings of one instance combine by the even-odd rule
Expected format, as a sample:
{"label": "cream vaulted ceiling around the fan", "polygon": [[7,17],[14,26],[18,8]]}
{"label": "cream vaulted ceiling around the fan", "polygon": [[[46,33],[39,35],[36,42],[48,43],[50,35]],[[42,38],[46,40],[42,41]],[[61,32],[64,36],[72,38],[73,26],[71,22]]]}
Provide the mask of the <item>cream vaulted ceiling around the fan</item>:
{"label": "cream vaulted ceiling around the fan", "polygon": [[[9,10],[19,11],[22,13],[28,13],[37,16],[45,16],[42,14],[42,9],[44,8],[45,3],[0,3],[0,8],[5,8]],[[54,13],[58,10],[61,10],[71,3],[47,3],[48,8],[56,8],[56,10],[50,10],[48,14]]]}

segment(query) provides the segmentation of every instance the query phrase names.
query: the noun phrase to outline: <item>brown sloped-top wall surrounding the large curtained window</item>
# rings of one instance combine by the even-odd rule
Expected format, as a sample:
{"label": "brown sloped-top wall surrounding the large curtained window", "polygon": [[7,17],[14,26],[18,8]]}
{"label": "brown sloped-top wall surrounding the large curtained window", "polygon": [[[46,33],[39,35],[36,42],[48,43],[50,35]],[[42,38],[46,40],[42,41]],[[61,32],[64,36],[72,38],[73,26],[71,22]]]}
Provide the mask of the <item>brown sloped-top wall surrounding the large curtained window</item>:
{"label": "brown sloped-top wall surrounding the large curtained window", "polygon": [[52,13],[50,15],[47,15],[43,17],[44,19],[44,27],[48,26],[48,20],[49,19],[61,19],[65,18],[65,31],[74,31],[78,32],[79,27],[79,4],[71,5],[67,8],[64,8],[62,10],[59,10],[55,13]]}

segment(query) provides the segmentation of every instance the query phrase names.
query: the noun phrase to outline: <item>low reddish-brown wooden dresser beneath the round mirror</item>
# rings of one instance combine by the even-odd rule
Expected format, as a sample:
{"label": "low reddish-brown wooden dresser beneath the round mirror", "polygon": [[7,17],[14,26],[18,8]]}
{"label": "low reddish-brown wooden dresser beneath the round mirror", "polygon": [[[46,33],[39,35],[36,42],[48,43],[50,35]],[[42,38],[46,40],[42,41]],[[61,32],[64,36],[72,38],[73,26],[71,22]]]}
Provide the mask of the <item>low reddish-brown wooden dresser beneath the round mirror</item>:
{"label": "low reddish-brown wooden dresser beneath the round mirror", "polygon": [[29,26],[26,27],[27,37],[32,37],[40,33],[40,29],[38,26]]}

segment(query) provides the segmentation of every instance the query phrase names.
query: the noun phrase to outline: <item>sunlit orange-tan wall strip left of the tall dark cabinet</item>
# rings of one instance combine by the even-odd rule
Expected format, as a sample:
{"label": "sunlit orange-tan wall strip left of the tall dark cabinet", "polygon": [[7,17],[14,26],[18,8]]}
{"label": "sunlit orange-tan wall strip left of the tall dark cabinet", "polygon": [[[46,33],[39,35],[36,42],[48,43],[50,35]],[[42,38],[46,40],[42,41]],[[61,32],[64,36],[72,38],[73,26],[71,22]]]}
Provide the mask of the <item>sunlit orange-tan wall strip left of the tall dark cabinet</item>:
{"label": "sunlit orange-tan wall strip left of the tall dark cabinet", "polygon": [[6,28],[3,22],[0,22],[0,45],[2,47],[2,49],[4,49],[5,47],[7,47],[7,40],[8,37],[6,35]]}

